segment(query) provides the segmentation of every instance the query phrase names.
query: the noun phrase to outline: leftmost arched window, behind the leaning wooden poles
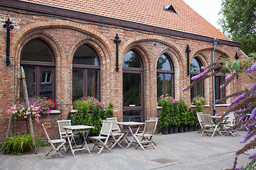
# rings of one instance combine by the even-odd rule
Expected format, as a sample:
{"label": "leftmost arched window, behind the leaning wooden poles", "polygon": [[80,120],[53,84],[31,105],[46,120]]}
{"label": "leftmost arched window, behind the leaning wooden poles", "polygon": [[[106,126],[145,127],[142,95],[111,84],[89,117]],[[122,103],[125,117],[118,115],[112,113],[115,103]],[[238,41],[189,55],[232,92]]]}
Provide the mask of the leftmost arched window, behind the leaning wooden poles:
{"label": "leftmost arched window, behind the leaning wooden poles", "polygon": [[37,38],[26,43],[21,66],[26,74],[28,96],[55,98],[55,57],[46,42]]}

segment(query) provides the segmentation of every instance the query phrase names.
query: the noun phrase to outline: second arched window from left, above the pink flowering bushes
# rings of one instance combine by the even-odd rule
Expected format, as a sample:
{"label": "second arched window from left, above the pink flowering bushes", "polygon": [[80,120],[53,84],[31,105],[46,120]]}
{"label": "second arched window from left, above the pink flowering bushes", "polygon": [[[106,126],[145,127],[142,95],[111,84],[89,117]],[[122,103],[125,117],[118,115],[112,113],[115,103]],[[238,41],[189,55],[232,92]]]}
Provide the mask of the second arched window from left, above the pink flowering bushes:
{"label": "second arched window from left, above the pink flowering bushes", "polygon": [[88,45],[78,47],[73,56],[73,101],[82,96],[100,99],[100,62]]}

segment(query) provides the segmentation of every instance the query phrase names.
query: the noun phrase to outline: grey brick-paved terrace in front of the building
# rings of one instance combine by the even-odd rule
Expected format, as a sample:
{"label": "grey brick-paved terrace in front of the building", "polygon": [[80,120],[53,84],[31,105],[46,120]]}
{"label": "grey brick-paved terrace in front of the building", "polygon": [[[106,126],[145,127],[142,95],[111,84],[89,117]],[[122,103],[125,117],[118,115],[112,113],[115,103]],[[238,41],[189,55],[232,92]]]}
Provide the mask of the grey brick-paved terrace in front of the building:
{"label": "grey brick-paved terrace in front of the building", "polygon": [[[156,150],[147,147],[144,152],[132,145],[129,149],[114,147],[111,153],[104,149],[100,155],[97,149],[91,154],[75,152],[75,157],[70,151],[63,152],[65,158],[55,154],[46,159],[50,147],[43,147],[38,154],[0,154],[0,169],[228,169],[233,167],[235,151],[244,145],[239,141],[245,133],[240,131],[240,137],[218,135],[213,138],[201,137],[198,132],[156,135]],[[92,143],[89,147],[92,148]],[[246,155],[238,158],[238,165],[247,162]]]}

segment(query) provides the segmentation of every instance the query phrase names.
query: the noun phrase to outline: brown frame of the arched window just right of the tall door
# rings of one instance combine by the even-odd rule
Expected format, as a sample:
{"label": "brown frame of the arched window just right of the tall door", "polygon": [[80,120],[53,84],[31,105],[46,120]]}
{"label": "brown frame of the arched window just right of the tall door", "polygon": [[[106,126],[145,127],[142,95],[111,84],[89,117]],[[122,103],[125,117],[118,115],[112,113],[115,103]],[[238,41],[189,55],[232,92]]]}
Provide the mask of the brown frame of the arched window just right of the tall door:
{"label": "brown frame of the arched window just right of the tall door", "polygon": [[[169,57],[169,55],[166,55],[165,53],[163,54],[166,59],[169,61],[170,63],[170,66],[171,66],[171,69],[170,70],[165,70],[165,69],[157,69],[157,65],[156,65],[156,74],[163,74],[163,93],[162,94],[157,94],[157,96],[161,96],[161,95],[166,95],[167,92],[166,92],[166,84],[164,83],[166,81],[166,74],[171,74],[171,77],[172,77],[172,94],[169,94],[169,96],[172,96],[173,98],[175,98],[175,86],[174,86],[174,74],[175,74],[175,71],[174,71],[174,63],[172,62],[171,58]],[[161,55],[162,56],[162,55]],[[161,57],[160,56],[160,57]],[[159,57],[159,58],[160,58]],[[159,62],[159,60],[157,61],[157,63]],[[156,82],[156,88],[157,88],[157,82]]]}

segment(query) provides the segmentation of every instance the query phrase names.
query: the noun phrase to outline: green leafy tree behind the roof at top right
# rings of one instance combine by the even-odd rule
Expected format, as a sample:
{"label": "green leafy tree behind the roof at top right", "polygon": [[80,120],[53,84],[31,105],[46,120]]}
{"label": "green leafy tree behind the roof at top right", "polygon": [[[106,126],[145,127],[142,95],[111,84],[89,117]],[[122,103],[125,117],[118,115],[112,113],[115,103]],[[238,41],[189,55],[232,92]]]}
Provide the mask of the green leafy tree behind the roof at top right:
{"label": "green leafy tree behind the roof at top right", "polygon": [[249,55],[256,52],[256,0],[223,0],[220,26],[225,35],[241,42],[241,50]]}

